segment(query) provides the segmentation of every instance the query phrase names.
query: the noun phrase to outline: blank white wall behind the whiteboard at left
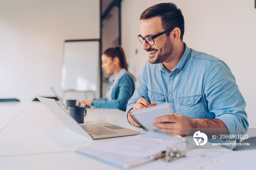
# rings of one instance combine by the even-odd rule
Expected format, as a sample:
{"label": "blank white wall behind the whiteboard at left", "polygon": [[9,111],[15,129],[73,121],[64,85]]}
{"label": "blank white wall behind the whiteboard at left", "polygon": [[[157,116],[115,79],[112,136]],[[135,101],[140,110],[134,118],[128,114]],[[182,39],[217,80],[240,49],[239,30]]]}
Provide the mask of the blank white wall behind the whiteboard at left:
{"label": "blank white wall behind the whiteboard at left", "polygon": [[99,0],[0,0],[0,98],[61,95],[63,42],[98,39],[99,19]]}

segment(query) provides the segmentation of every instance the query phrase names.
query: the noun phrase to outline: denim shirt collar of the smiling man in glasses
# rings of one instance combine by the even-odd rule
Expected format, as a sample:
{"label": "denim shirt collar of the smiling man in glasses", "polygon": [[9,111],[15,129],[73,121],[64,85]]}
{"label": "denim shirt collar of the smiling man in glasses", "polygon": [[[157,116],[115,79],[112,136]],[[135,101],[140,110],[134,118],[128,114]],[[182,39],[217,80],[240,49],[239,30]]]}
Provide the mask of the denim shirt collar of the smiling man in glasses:
{"label": "denim shirt collar of the smiling man in glasses", "polygon": [[[184,42],[183,42],[184,43]],[[190,56],[190,49],[188,48],[188,46],[186,45],[186,43],[184,43],[184,47],[185,47],[185,51],[184,54],[182,55],[180,61],[178,62],[178,65],[175,67],[175,69],[179,69],[182,70],[184,68],[184,66],[186,65],[186,63],[188,62],[189,56]],[[175,70],[173,69],[173,70]],[[166,67],[163,65],[163,63],[159,64],[159,69],[158,71],[162,71],[162,72],[168,72],[168,70],[166,69]]]}

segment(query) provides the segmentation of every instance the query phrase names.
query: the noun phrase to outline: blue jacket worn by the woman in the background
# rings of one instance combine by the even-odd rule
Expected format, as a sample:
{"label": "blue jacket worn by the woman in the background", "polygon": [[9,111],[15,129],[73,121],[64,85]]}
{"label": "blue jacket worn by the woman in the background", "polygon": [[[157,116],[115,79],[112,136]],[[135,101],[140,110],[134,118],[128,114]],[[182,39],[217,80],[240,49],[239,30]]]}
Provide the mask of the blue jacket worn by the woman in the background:
{"label": "blue jacket worn by the woman in the background", "polygon": [[[112,83],[112,81],[109,81],[107,92]],[[97,108],[117,108],[125,111],[127,102],[129,98],[131,98],[134,90],[135,84],[133,76],[131,73],[125,72],[113,88],[111,94],[112,100],[107,100],[106,98],[97,99],[93,100],[91,105]]]}

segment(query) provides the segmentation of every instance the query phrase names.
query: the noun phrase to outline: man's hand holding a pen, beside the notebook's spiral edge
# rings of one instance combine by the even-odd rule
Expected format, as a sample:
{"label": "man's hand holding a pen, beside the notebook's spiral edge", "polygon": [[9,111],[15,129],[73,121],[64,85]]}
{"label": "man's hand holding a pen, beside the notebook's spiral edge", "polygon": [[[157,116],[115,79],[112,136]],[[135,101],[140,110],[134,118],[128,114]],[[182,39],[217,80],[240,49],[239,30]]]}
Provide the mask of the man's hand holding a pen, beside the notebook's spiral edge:
{"label": "man's hand holding a pen, beside the notebook's spiral edge", "polygon": [[[150,104],[144,97],[140,98],[135,104],[133,104],[133,109],[142,109],[142,108],[147,108],[147,107],[152,107],[157,105],[156,103],[152,103]],[[129,122],[133,125],[133,126],[137,126],[139,127],[139,125],[132,119],[131,117],[131,111],[129,111],[127,118],[129,120]]]}

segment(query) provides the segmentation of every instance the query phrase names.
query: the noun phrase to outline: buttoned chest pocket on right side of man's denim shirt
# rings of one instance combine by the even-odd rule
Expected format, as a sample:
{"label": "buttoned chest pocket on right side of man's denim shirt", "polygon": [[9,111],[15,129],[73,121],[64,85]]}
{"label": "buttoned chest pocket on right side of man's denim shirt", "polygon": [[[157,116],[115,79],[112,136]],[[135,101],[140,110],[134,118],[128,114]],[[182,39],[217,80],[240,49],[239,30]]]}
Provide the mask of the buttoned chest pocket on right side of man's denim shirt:
{"label": "buttoned chest pocket on right side of man's denim shirt", "polygon": [[206,112],[202,101],[202,95],[182,96],[178,98],[181,115],[190,118],[205,118]]}

